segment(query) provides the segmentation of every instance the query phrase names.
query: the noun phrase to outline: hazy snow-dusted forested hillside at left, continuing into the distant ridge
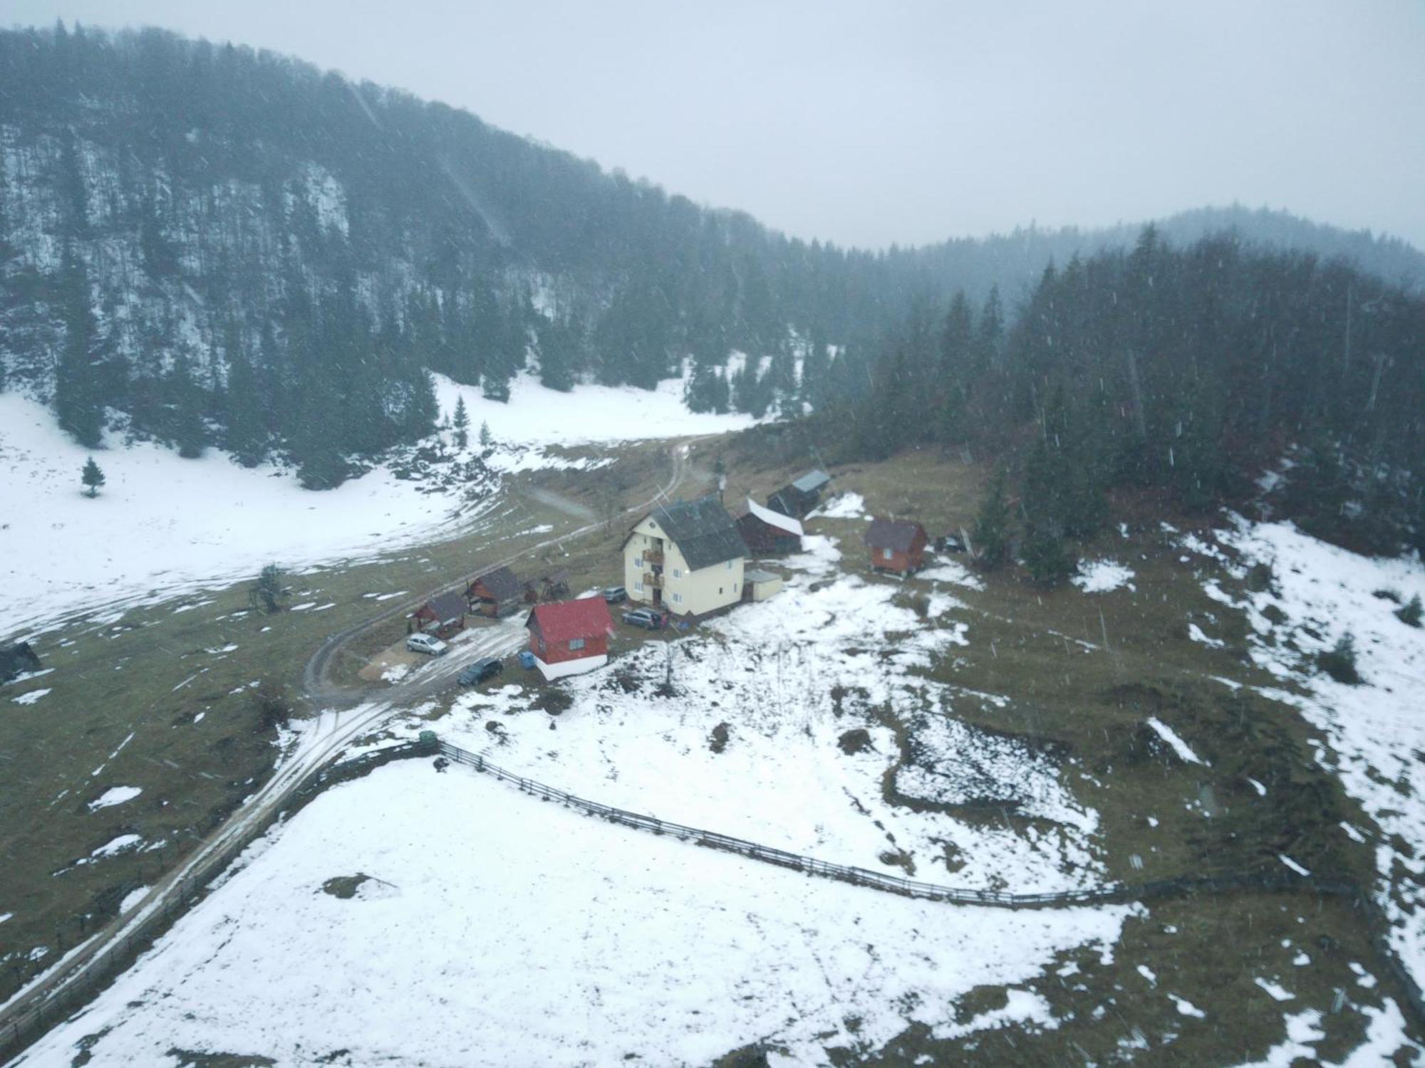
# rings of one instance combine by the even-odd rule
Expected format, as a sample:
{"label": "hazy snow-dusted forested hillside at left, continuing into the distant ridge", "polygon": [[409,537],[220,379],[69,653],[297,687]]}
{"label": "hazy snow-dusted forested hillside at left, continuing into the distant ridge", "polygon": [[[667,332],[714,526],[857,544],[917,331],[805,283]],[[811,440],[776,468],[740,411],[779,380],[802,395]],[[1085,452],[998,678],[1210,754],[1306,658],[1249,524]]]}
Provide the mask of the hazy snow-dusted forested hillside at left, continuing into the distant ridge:
{"label": "hazy snow-dusted forested hillside at left, continuing into the distant ridge", "polygon": [[[1425,279],[1401,242],[1285,215],[1166,225]],[[916,302],[960,289],[1012,323],[1049,259],[1126,242],[839,249],[271,53],[0,33],[0,387],[51,400],[86,444],[107,424],[279,454],[312,487],[429,433],[428,372],[496,399],[526,366],[553,389],[687,373],[694,407],[794,412],[832,389],[831,353],[869,352]]]}

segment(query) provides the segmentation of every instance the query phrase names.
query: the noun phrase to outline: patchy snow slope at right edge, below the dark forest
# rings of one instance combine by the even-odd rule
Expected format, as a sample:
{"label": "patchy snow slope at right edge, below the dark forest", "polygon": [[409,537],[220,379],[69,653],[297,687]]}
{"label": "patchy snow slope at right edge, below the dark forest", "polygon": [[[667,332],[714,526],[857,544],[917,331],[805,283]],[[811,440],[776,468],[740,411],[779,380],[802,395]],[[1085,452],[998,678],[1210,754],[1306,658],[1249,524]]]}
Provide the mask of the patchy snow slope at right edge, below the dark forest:
{"label": "patchy snow slope at right edge, below the dark forest", "polygon": [[[1330,750],[1317,758],[1341,776],[1347,792],[1379,826],[1375,843],[1377,899],[1394,923],[1394,946],[1415,978],[1425,983],[1425,629],[1395,617],[1396,601],[1425,598],[1425,565],[1418,560],[1374,560],[1328,545],[1290,523],[1235,520],[1223,535],[1247,564],[1270,564],[1273,590],[1245,594],[1243,607],[1255,629],[1253,658],[1307,693],[1273,691],[1301,708],[1320,728]],[[1231,602],[1216,584],[1208,594]],[[1285,612],[1275,625],[1268,605]],[[1314,669],[1318,652],[1351,634],[1361,685],[1335,682]],[[1295,648],[1287,645],[1287,641]],[[1348,833],[1359,836],[1359,829]],[[1395,844],[1404,843],[1404,847]]]}

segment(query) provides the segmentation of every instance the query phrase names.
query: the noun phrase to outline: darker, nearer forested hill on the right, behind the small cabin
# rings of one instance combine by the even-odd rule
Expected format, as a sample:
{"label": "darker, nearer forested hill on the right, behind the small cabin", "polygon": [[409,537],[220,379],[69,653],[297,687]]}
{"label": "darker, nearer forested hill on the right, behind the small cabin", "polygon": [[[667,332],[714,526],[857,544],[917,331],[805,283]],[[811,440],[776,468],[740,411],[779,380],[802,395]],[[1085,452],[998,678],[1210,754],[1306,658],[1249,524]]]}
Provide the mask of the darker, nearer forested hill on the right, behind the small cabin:
{"label": "darker, nearer forested hill on the right, behind the small cabin", "polygon": [[846,457],[1013,457],[985,533],[996,558],[1013,525],[1043,581],[1072,565],[1066,540],[1106,521],[1110,488],[1200,508],[1282,457],[1277,507],[1302,527],[1425,553],[1425,298],[1342,261],[1231,236],[1176,248],[1149,226],[1131,251],[1049,265],[1007,328],[993,296],[915,308],[831,360],[819,400],[814,422]]}

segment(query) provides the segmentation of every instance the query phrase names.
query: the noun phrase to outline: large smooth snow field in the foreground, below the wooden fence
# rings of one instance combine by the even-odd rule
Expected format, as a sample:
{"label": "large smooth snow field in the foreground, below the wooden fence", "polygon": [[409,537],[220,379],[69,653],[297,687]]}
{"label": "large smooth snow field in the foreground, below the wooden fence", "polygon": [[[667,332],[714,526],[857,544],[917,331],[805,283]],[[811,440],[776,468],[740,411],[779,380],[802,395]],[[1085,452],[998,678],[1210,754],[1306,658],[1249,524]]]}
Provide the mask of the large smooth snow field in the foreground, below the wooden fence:
{"label": "large smooth snow field in the foreground, below the wooden fence", "polygon": [[[351,897],[322,889],[362,874]],[[1126,914],[905,900],[399,762],[259,840],[23,1062],[68,1065],[84,1042],[90,1068],[170,1049],[701,1065],[755,1041],[772,1064],[818,1062],[913,1021],[948,1035],[955,998],[980,984],[1013,995],[982,1027],[1052,1027],[1016,984],[1059,951],[1112,946]]]}

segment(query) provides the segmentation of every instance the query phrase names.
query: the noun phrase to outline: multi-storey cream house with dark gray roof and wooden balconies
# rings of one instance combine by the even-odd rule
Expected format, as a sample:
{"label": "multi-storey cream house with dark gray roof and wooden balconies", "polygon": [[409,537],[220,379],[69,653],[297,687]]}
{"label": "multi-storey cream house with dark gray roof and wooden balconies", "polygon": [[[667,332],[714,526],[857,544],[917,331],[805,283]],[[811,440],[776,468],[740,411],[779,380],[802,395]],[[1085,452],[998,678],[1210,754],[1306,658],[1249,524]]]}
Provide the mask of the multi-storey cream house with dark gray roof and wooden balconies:
{"label": "multi-storey cream house with dark gray roof and wooden balconies", "polygon": [[717,497],[665,504],[624,541],[630,601],[704,615],[742,600],[747,545]]}

